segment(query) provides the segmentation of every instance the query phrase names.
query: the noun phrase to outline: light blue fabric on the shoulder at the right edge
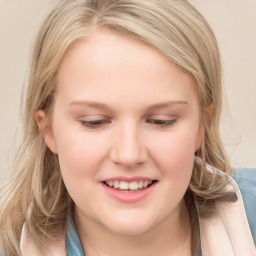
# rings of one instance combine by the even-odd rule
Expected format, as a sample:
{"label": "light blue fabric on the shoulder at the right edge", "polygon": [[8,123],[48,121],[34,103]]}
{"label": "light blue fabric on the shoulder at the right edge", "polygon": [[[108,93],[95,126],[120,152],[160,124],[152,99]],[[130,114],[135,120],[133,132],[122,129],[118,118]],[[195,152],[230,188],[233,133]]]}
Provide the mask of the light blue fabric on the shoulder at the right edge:
{"label": "light blue fabric on the shoulder at the right edge", "polygon": [[256,244],[256,168],[236,168],[233,179],[241,191],[247,219]]}

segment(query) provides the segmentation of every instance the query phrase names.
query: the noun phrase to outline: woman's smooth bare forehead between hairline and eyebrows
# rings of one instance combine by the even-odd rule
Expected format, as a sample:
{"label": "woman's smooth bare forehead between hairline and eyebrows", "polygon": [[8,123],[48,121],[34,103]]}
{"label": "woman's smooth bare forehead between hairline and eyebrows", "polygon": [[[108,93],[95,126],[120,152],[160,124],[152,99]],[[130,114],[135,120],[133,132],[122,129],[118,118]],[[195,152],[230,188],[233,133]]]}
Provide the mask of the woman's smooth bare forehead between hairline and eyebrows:
{"label": "woman's smooth bare forehead between hairline and eyebrows", "polygon": [[[196,98],[193,79],[158,50],[135,39],[97,31],[76,42],[58,74],[59,94],[71,100],[138,97],[147,102]],[[111,96],[111,97],[110,97]]]}

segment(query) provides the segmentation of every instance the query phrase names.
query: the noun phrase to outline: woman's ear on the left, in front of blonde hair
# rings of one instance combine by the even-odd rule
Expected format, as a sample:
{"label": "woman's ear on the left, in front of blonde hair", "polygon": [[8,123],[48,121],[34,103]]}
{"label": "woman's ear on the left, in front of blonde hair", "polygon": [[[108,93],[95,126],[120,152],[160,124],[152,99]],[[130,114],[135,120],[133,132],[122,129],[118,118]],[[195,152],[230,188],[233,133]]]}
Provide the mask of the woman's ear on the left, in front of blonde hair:
{"label": "woman's ear on the left, in front of blonde hair", "polygon": [[54,154],[57,154],[57,148],[56,148],[54,135],[52,132],[51,125],[49,123],[49,119],[47,118],[45,111],[37,110],[35,112],[34,117],[35,117],[36,123],[38,125],[38,128],[44,137],[46,145]]}

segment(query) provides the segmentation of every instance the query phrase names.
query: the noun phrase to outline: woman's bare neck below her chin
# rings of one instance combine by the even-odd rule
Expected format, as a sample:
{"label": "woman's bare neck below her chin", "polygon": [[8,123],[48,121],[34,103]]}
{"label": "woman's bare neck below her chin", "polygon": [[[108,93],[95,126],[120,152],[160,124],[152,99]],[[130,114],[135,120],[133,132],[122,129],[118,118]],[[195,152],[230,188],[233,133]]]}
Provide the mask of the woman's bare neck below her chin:
{"label": "woman's bare neck below her chin", "polygon": [[139,235],[115,234],[77,211],[74,219],[86,256],[191,255],[191,228],[185,203],[176,218],[170,216]]}

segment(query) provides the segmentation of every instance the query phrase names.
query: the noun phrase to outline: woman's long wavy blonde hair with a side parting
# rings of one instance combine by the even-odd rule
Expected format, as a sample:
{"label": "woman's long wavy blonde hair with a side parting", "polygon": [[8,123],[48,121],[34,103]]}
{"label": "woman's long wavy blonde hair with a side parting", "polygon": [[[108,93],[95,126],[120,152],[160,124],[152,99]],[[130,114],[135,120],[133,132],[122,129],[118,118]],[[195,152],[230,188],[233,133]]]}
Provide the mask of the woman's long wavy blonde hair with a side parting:
{"label": "woman's long wavy blonde hair with a side parting", "polygon": [[[109,29],[156,48],[196,82],[204,127],[196,152],[186,203],[192,223],[192,247],[199,247],[197,213],[214,214],[216,200],[227,200],[228,176],[207,171],[207,164],[231,174],[219,134],[222,102],[221,63],[215,36],[201,14],[185,0],[64,0],[39,30],[31,61],[25,107],[24,140],[10,179],[0,190],[0,240],[7,255],[21,255],[21,230],[43,247],[65,231],[72,212],[58,158],[46,146],[34,119],[36,110],[49,115],[54,104],[58,69],[67,49],[93,30]],[[204,114],[205,111],[208,115]],[[197,210],[195,202],[197,202]]]}

